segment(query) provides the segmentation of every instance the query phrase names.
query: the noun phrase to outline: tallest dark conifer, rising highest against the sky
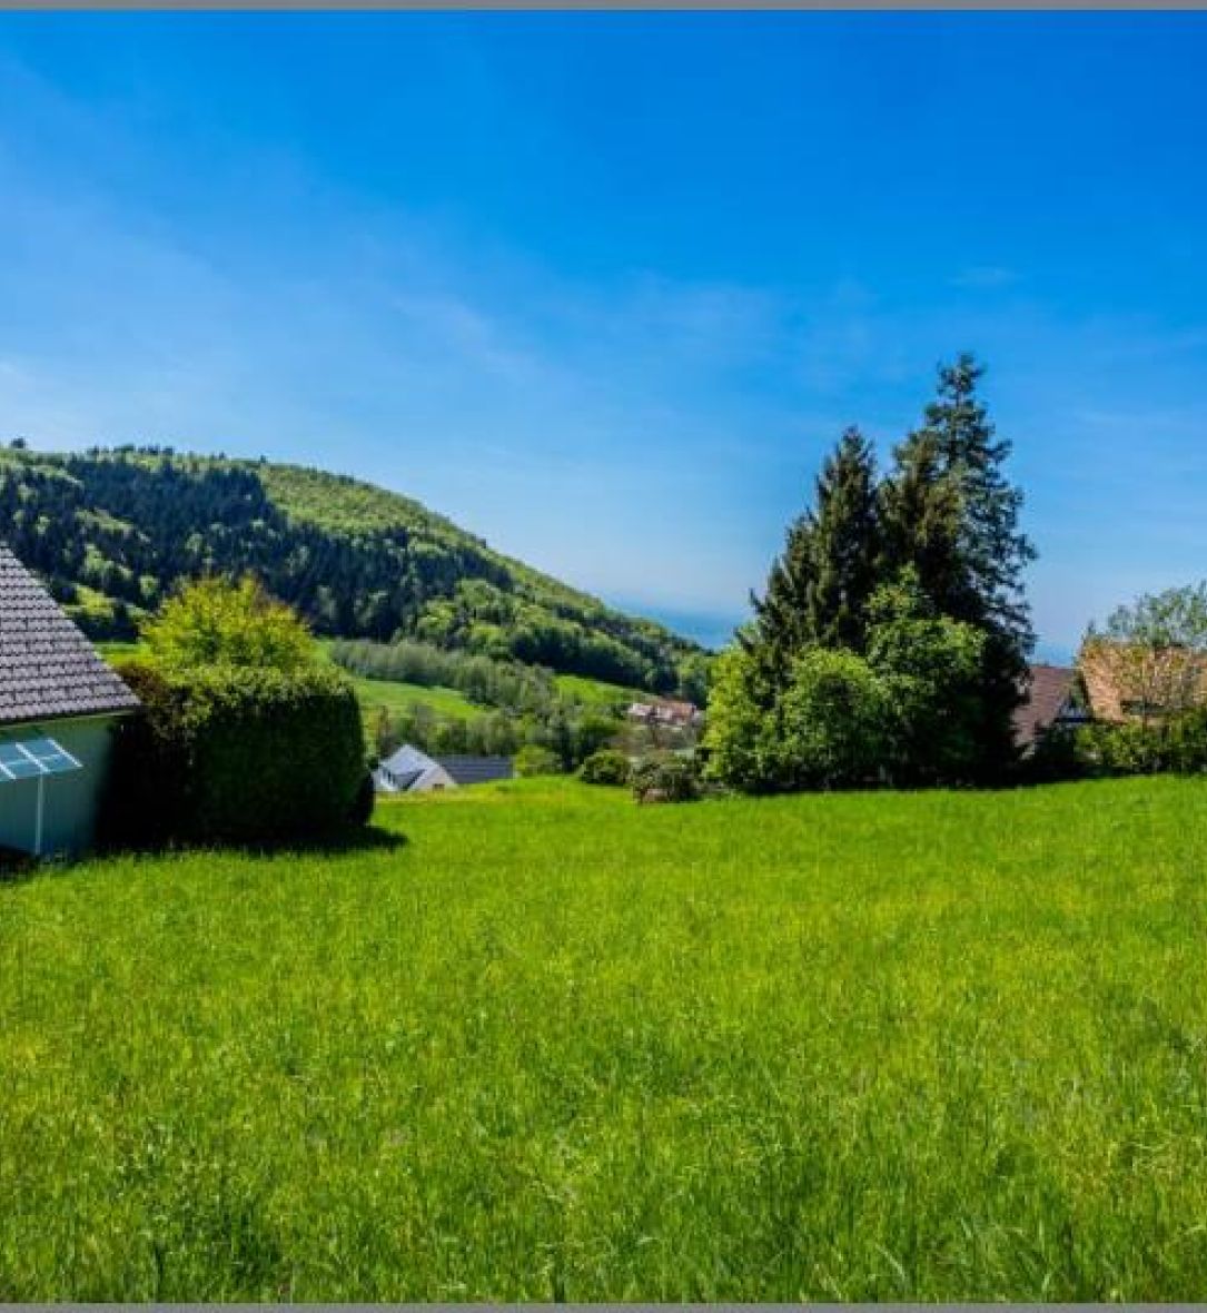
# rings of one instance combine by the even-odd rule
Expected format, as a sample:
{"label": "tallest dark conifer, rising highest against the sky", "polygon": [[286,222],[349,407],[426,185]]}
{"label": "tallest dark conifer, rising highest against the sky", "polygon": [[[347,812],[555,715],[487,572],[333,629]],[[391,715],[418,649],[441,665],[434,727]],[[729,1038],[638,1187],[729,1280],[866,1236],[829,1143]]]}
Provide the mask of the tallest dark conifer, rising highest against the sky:
{"label": "tallest dark conifer, rising highest against the sky", "polygon": [[985,630],[981,773],[1013,755],[1011,714],[1022,700],[1035,642],[1023,571],[1035,558],[1019,528],[1022,492],[1006,478],[1011,445],[977,395],[984,366],[969,355],[939,369],[923,425],[897,448],[881,491],[889,574],[917,570],[940,614]]}

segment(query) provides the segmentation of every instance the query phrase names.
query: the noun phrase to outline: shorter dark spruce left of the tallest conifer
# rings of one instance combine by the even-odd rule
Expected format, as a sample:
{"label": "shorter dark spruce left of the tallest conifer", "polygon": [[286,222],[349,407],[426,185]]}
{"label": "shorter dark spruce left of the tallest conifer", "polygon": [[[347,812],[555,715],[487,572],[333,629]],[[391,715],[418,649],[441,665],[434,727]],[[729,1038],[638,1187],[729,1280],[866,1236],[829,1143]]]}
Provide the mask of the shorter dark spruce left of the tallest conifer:
{"label": "shorter dark spruce left of the tallest conifer", "polygon": [[772,676],[808,646],[864,650],[880,555],[875,454],[848,428],[817,477],[813,507],[789,527],[764,596],[751,597],[751,646]]}

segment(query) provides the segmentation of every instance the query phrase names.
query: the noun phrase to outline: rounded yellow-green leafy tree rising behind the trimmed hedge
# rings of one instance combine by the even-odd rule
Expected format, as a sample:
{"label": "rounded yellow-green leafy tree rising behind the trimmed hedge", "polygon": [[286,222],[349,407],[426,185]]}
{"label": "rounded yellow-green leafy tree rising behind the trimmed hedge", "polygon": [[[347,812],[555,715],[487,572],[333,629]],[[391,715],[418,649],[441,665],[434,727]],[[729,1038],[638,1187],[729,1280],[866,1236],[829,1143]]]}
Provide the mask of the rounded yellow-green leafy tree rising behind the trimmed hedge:
{"label": "rounded yellow-green leafy tree rising behind the trimmed hedge", "polygon": [[169,597],[142,626],[151,659],[167,670],[250,666],[294,671],[317,658],[317,643],[290,607],[244,575],[198,579]]}

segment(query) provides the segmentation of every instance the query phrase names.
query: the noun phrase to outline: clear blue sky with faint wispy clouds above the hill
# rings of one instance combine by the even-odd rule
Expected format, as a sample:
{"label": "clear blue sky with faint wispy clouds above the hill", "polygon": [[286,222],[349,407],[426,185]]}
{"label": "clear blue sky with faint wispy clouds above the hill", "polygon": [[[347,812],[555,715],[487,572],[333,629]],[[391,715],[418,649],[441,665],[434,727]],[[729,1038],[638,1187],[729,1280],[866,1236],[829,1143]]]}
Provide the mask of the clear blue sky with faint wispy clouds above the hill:
{"label": "clear blue sky with faint wispy clouds above the hill", "polygon": [[1042,653],[1207,575],[1207,14],[0,16],[0,436],[359,474],[712,641],[968,348]]}

